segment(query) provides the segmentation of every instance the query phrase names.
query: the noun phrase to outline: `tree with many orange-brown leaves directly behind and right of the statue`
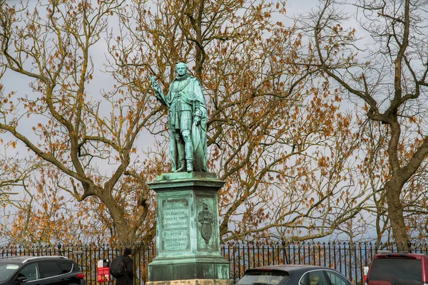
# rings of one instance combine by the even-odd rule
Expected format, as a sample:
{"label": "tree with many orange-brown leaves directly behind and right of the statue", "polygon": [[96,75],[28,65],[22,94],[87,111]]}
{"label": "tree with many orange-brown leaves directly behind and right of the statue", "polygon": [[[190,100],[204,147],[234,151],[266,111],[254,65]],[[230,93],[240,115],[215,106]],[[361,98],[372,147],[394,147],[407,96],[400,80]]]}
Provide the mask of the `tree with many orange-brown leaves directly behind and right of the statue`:
{"label": "tree with many orange-brown leaves directly behind and right of the statue", "polygon": [[[315,78],[295,26],[273,21],[284,16],[280,1],[133,3],[111,38],[108,70],[136,90],[152,73],[166,90],[175,63],[192,66],[210,115],[209,168],[226,181],[223,241],[325,237],[355,217],[371,194],[352,189],[352,118]],[[166,137],[159,114],[151,132]]]}

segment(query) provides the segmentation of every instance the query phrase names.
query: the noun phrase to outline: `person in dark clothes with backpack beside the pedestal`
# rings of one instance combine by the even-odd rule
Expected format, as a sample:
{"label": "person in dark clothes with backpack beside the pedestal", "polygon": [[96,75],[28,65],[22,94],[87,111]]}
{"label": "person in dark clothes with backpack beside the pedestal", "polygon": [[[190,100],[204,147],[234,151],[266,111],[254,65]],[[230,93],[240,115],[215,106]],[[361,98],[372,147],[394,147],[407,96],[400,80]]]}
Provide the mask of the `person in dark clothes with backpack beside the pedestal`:
{"label": "person in dark clothes with backpack beside the pedestal", "polygon": [[133,260],[131,249],[126,247],[123,255],[119,255],[110,264],[110,274],[116,278],[116,285],[133,284]]}

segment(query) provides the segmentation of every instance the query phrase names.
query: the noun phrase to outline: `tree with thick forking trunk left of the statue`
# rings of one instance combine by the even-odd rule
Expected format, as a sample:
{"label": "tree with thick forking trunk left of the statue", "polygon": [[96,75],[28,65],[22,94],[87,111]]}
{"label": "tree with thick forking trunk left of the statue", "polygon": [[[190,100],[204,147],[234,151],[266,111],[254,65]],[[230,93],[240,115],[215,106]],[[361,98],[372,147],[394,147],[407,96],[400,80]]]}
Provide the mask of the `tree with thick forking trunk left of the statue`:
{"label": "tree with thick forking trunk left of the statue", "polygon": [[[93,80],[91,54],[123,3],[7,2],[1,1],[0,11],[1,66],[27,78],[31,93],[6,96],[0,129],[63,172],[68,180],[61,187],[77,201],[97,197],[113,219],[119,241],[131,242],[141,228],[142,235],[153,238],[153,221],[146,219],[150,174],[130,166],[145,123],[146,99],[121,98],[118,106],[113,93],[101,101],[87,90]],[[24,125],[31,126],[31,135]]]}

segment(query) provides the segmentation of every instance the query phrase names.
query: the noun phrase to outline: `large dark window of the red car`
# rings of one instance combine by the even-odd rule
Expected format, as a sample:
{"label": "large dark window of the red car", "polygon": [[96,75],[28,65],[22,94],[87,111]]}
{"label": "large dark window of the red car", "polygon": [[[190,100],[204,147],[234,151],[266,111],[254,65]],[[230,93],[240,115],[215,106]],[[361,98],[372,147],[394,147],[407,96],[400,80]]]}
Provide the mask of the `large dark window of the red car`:
{"label": "large dark window of the red car", "polygon": [[422,284],[420,259],[374,259],[370,280],[397,285]]}

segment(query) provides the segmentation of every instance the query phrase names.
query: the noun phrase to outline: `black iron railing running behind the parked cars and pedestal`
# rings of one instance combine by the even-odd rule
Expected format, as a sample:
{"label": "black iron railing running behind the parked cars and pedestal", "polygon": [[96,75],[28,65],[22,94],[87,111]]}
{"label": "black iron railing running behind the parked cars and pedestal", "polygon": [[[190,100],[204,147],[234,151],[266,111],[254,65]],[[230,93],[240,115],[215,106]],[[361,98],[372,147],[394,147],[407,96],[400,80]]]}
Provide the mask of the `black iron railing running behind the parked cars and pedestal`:
{"label": "black iron railing running behind the parked cars and pedestal", "polygon": [[[96,266],[100,259],[113,259],[125,247],[133,249],[136,268],[135,284],[147,280],[147,265],[156,257],[154,244],[111,246],[110,244],[46,244],[31,247],[3,246],[0,256],[62,255],[74,259],[86,274],[88,284],[96,284]],[[428,254],[428,244],[412,245],[412,252]],[[312,264],[327,266],[347,276],[355,284],[362,284],[362,271],[378,249],[400,252],[391,244],[376,247],[370,242],[300,242],[284,244],[228,243],[221,245],[221,254],[230,263],[230,279],[238,281],[246,269],[272,264]],[[113,283],[112,283],[113,284]]]}

